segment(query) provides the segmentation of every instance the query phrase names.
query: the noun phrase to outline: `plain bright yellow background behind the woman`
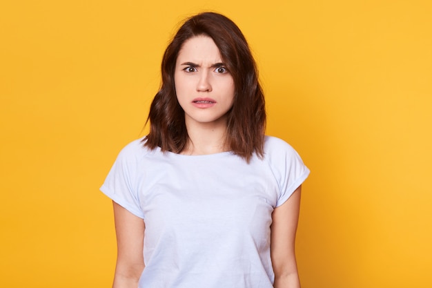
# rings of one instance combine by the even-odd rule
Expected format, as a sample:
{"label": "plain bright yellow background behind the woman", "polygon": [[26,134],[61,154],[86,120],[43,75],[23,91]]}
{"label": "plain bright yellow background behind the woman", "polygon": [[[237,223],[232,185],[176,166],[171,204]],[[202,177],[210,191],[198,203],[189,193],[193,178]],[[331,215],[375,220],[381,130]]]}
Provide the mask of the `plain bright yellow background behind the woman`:
{"label": "plain bright yellow background behind the woman", "polygon": [[304,288],[432,287],[429,0],[1,1],[0,287],[110,287],[99,192],[144,135],[179,21],[216,10],[257,58],[268,134],[311,168]]}

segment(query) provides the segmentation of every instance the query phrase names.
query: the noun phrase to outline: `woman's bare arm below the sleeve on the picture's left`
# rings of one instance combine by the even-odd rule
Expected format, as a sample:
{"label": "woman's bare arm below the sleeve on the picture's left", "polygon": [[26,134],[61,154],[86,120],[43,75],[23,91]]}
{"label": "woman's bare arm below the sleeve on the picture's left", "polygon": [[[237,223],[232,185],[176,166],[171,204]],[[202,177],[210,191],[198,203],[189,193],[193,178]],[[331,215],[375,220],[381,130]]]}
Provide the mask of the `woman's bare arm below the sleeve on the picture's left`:
{"label": "woman's bare arm below the sleeve on the picture's left", "polygon": [[117,263],[112,288],[138,287],[139,276],[144,270],[144,221],[116,202],[112,203],[117,235]]}

